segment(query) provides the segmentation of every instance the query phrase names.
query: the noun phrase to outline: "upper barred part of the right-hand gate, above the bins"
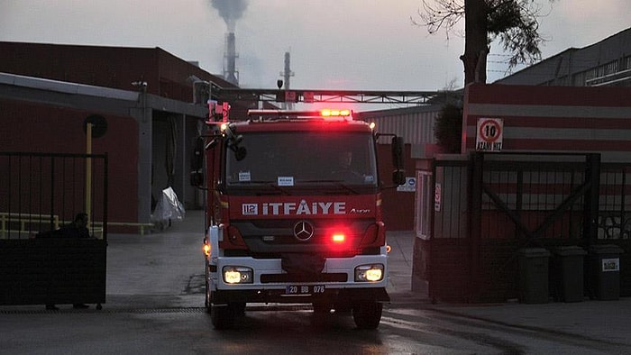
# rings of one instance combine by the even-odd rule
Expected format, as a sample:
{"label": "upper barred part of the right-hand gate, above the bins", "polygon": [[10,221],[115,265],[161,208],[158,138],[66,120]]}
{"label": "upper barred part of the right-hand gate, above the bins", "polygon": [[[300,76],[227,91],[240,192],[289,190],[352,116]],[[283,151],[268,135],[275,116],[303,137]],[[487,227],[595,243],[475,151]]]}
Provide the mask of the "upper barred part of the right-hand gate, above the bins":
{"label": "upper barred part of the right-hand gate, above the bins", "polygon": [[[547,154],[527,160],[518,154],[485,156],[479,185],[473,186],[471,159],[436,159],[422,172],[427,188],[418,196],[424,206],[417,232],[425,239],[468,238],[480,228],[482,239],[585,238],[584,213],[588,160],[583,154]],[[512,159],[512,160],[506,160]],[[598,163],[595,195],[597,231],[592,241],[631,238],[631,164]],[[477,205],[471,197],[480,195]],[[589,197],[588,197],[589,199]],[[471,213],[480,212],[479,225]],[[431,211],[433,210],[433,211]],[[471,211],[470,211],[471,210]],[[431,214],[429,212],[432,212]],[[516,223],[520,221],[521,223]],[[529,230],[529,232],[528,232]],[[424,232],[423,232],[424,231]],[[535,233],[535,235],[533,234]]]}

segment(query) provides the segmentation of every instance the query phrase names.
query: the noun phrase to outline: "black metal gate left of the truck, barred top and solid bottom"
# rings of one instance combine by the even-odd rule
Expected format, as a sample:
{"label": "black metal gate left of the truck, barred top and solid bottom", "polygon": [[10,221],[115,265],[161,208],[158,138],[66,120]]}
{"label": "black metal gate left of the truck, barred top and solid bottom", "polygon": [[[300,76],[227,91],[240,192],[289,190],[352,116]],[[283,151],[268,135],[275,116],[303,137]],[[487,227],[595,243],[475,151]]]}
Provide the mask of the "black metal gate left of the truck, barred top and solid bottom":
{"label": "black metal gate left of the truck, barred top and solid bottom", "polygon": [[[0,305],[105,303],[107,156],[0,152]],[[42,238],[87,213],[91,238]]]}

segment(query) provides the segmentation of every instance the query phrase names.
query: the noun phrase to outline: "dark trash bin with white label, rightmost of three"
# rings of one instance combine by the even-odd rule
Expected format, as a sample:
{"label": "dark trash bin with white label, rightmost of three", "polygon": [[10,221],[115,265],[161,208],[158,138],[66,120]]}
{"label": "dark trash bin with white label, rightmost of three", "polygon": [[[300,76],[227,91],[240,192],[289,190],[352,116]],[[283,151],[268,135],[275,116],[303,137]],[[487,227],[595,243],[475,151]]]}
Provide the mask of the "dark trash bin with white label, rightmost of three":
{"label": "dark trash bin with white label, rightmost of three", "polygon": [[620,298],[620,254],[614,244],[590,246],[590,295],[607,301]]}

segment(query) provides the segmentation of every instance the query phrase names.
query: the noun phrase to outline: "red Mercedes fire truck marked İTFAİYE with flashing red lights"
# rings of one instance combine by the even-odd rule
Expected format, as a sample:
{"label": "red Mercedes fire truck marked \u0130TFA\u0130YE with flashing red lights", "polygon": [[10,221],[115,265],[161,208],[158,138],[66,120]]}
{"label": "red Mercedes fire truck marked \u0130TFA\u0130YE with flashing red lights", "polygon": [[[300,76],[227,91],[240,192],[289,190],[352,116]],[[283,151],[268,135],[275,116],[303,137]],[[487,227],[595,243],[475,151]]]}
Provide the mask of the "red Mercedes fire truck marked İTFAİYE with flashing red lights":
{"label": "red Mercedes fire truck marked \u0130TFA\u0130YE with flashing red lights", "polygon": [[[351,311],[358,328],[377,328],[389,295],[374,125],[344,110],[251,110],[246,121],[208,123],[191,181],[207,191],[215,329],[232,327],[247,303]],[[389,136],[397,186],[403,141]]]}

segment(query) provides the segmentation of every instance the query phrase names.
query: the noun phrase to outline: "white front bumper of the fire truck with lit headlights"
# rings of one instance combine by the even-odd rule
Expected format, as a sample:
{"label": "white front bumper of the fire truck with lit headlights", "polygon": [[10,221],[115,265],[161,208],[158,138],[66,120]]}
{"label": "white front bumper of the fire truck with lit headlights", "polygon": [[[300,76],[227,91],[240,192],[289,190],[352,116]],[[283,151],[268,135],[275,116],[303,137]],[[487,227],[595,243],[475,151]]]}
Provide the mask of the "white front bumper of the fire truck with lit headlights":
{"label": "white front bumper of the fire truck with lit headlights", "polygon": [[282,269],[281,259],[217,258],[209,264],[214,304],[389,302],[387,255],[329,258],[318,272]]}

